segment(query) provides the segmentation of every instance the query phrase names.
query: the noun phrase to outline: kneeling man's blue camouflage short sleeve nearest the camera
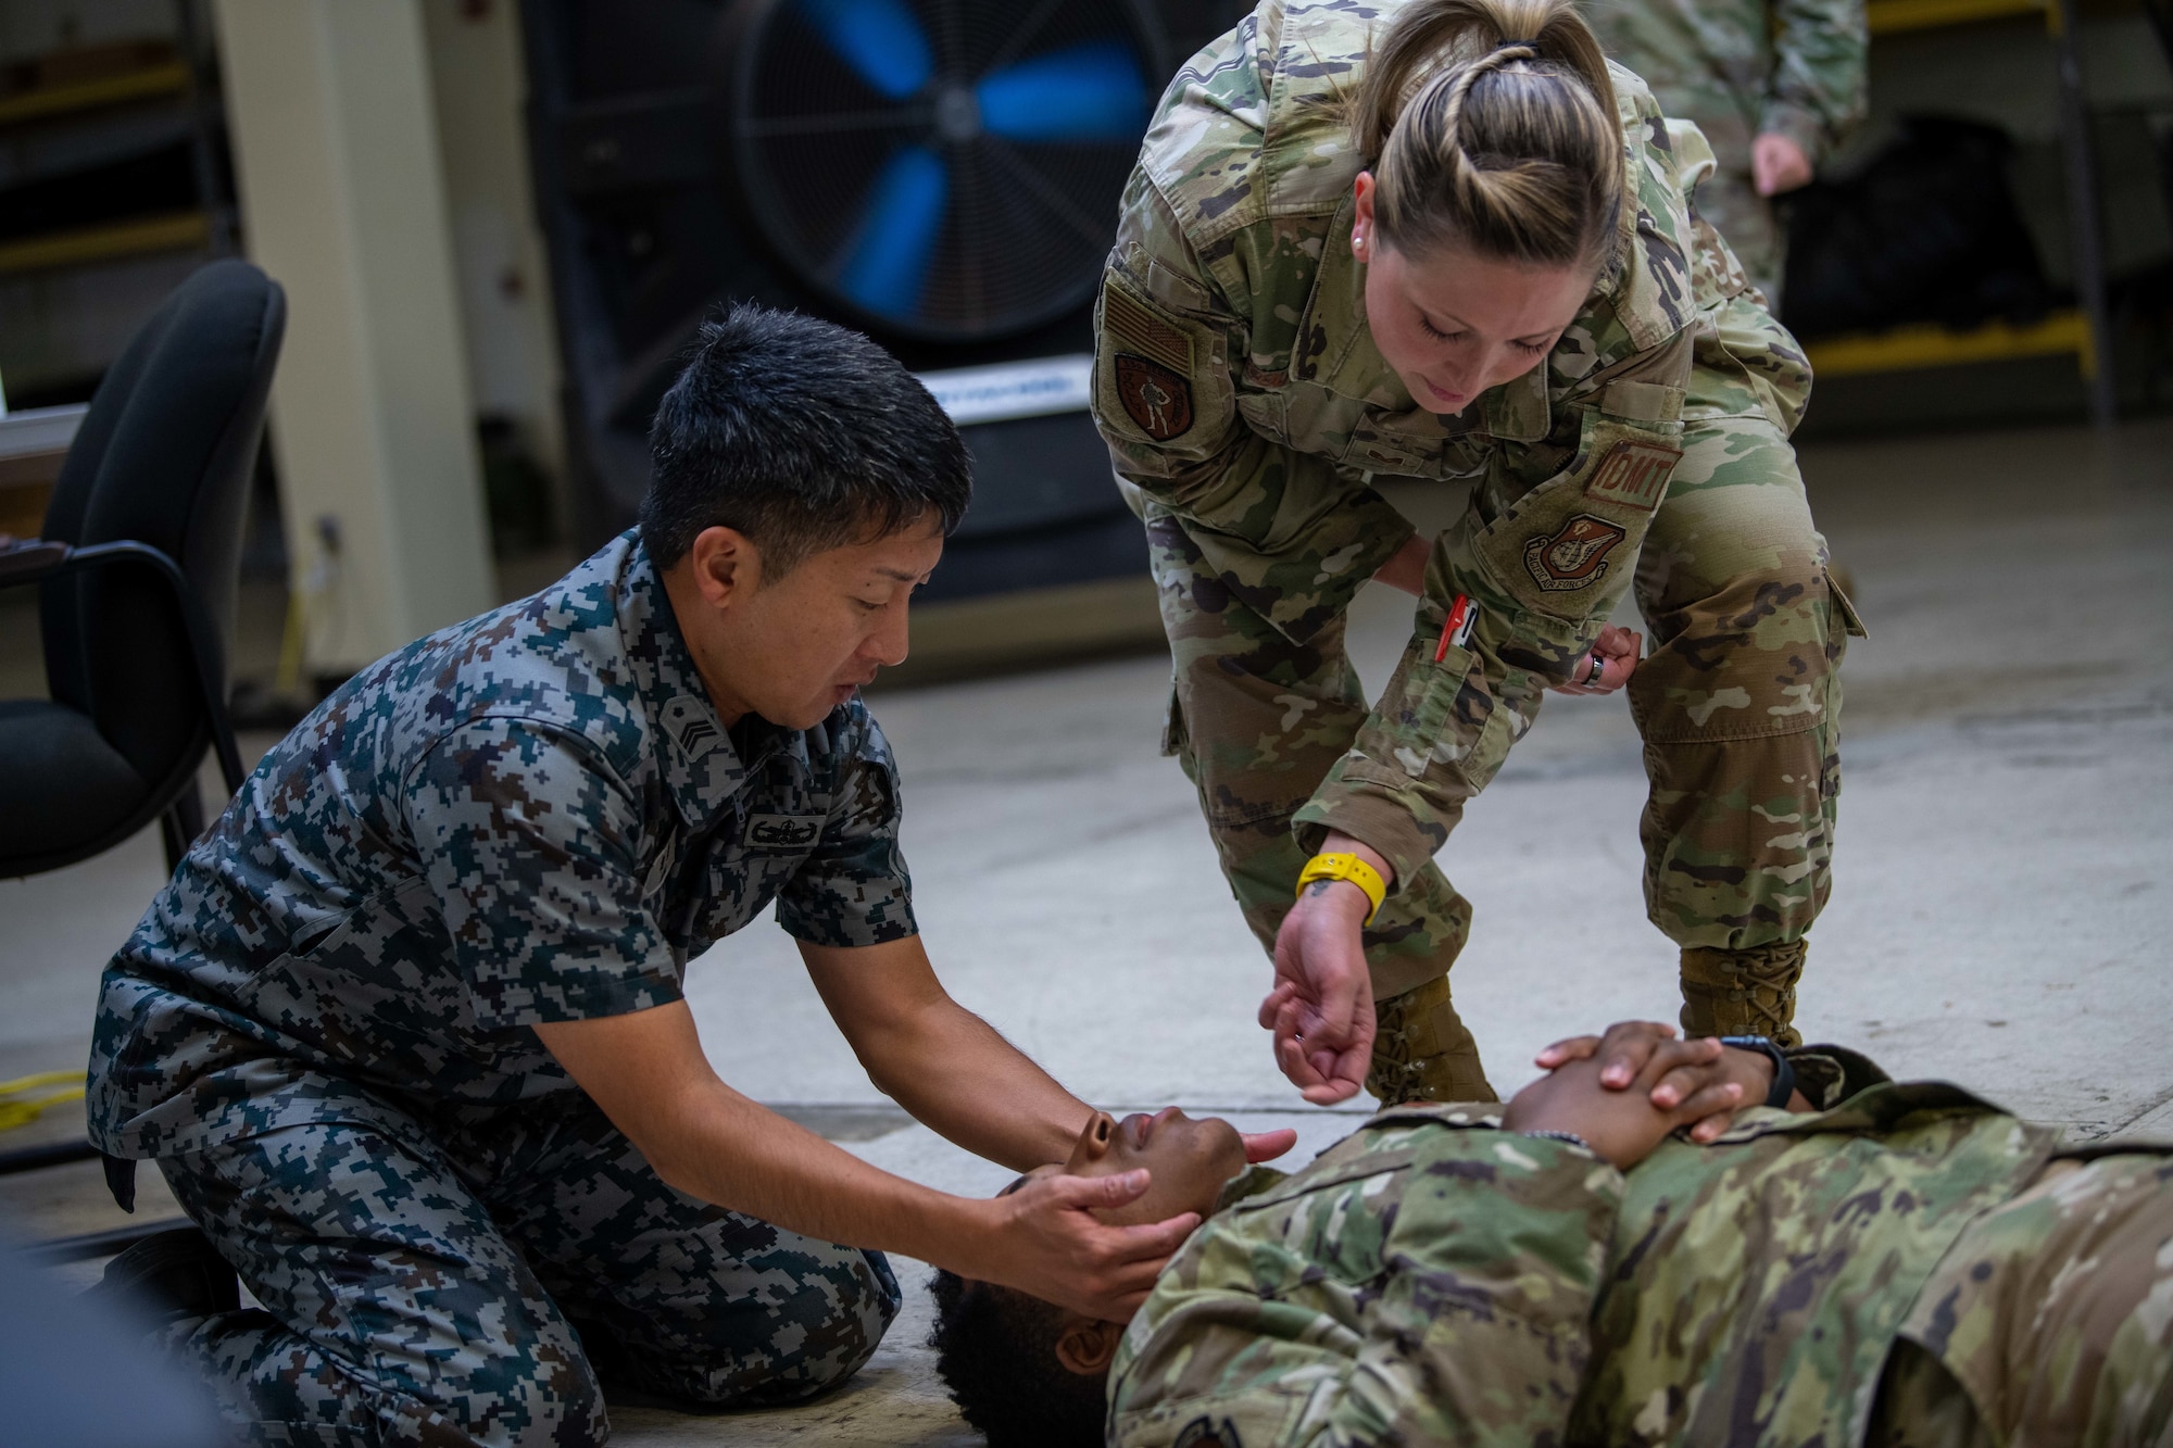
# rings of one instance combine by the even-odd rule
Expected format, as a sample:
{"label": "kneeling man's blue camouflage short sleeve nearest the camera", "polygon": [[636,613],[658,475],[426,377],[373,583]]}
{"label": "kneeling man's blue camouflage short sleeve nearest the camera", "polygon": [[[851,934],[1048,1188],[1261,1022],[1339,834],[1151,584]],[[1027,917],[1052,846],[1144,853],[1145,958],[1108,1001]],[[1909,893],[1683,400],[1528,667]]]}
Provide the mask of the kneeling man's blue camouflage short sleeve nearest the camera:
{"label": "kneeling man's blue camouflage short sleeve nearest the camera", "polygon": [[585,741],[476,720],[409,772],[402,811],[482,1028],[680,998],[643,907],[641,807]]}

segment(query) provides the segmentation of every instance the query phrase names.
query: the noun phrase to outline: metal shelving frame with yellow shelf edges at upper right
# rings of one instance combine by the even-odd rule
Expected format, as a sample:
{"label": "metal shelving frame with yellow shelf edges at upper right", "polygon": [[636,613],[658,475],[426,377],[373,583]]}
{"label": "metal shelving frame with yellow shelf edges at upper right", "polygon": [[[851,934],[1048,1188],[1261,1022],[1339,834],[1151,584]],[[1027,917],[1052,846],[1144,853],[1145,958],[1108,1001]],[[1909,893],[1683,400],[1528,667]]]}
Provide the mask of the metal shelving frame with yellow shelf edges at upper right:
{"label": "metal shelving frame with yellow shelf edges at upper right", "polygon": [[1899,326],[1884,333],[1825,337],[1806,344],[1806,352],[1812,370],[1823,376],[2073,354],[2084,378],[2090,420],[2103,426],[2114,420],[2112,328],[2106,307],[2097,170],[2075,46],[2075,0],[1869,0],[1864,7],[1873,37],[2017,15],[2043,15],[2053,46],[2077,307],[2053,311],[2030,326],[2008,322],[1990,322],[1971,330]]}

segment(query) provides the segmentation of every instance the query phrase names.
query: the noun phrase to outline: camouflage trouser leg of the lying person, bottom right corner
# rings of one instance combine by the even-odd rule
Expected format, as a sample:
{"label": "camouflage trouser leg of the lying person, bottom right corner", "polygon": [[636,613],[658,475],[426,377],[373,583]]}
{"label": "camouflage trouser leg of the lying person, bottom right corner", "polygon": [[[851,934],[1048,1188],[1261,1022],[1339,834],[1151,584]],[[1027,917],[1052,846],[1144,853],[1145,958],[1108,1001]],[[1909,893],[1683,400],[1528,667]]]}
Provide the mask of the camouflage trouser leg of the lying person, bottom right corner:
{"label": "camouflage trouser leg of the lying person, bottom right corner", "polygon": [[1867,1448],[2173,1441],[2173,1154],[2058,1161],[1917,1296]]}

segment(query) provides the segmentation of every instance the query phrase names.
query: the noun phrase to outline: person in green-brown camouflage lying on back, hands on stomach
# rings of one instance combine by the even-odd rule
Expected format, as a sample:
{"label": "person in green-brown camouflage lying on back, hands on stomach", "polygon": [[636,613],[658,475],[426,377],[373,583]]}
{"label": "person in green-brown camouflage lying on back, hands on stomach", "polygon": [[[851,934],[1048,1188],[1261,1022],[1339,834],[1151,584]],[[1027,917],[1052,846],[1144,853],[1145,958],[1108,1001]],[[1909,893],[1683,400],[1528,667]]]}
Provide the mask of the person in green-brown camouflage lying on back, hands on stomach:
{"label": "person in green-brown camouflage lying on back, hands on stomach", "polygon": [[939,1372],[991,1448],[2169,1441],[2173,1148],[2060,1150],[1832,1046],[1788,1052],[1791,1111],[1671,1137],[1780,1061],[1669,1035],[1286,1178],[1223,1122],[1095,1118],[1039,1172],[1213,1215],[1130,1328],[939,1274]]}

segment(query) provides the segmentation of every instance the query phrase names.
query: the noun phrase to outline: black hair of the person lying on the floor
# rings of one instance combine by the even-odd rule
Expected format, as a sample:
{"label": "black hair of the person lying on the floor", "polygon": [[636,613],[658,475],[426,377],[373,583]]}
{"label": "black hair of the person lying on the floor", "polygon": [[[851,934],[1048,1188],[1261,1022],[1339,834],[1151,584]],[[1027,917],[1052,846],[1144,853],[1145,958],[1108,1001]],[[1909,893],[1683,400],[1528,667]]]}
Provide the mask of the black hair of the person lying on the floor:
{"label": "black hair of the person lying on the floor", "polygon": [[989,1448],[1102,1448],[1104,1383],[1056,1361],[1054,1302],[937,1272],[937,1374]]}

